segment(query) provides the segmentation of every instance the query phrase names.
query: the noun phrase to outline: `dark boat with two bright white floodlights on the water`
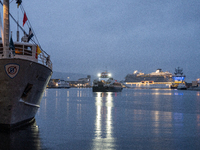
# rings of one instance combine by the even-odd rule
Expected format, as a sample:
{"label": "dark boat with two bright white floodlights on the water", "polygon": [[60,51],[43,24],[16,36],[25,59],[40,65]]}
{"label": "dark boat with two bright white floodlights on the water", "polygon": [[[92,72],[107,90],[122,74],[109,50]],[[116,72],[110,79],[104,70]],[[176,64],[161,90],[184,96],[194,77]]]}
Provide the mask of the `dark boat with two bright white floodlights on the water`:
{"label": "dark boat with two bright white floodlights on the water", "polygon": [[99,78],[93,81],[93,92],[121,92],[122,85],[111,77],[109,72],[98,74]]}

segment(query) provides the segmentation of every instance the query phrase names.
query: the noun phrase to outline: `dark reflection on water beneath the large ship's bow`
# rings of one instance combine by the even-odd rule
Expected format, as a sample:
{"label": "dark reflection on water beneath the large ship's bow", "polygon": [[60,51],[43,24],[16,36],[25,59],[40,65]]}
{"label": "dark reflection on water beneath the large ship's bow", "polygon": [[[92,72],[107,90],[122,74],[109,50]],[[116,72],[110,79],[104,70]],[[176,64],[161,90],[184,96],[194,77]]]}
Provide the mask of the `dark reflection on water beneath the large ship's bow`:
{"label": "dark reflection on water beneath the large ship's bow", "polygon": [[41,142],[39,136],[38,126],[36,122],[33,124],[17,129],[12,132],[0,132],[0,149],[9,150],[39,150],[41,149]]}

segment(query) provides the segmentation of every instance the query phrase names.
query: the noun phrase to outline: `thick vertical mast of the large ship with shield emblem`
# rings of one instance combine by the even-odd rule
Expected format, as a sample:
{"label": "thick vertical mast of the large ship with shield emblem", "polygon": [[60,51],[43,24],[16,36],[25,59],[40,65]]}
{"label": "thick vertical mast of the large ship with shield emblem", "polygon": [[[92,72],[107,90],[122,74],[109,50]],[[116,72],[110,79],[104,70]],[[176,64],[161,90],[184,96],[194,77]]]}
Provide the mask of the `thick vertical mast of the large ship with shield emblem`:
{"label": "thick vertical mast of the large ship with shield emblem", "polygon": [[3,1],[3,39],[3,58],[9,58],[9,0]]}

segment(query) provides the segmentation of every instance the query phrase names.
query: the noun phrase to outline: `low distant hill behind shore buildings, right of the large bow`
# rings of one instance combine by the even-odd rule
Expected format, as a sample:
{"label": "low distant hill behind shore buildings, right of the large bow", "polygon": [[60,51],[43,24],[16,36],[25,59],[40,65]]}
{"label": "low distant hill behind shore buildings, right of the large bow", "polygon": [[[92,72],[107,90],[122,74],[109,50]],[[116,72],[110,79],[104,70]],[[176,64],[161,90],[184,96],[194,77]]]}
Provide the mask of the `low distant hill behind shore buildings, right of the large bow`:
{"label": "low distant hill behind shore buildings, right of the large bow", "polygon": [[[81,73],[67,73],[67,72],[57,72],[54,71],[52,74],[52,79],[61,79],[66,81],[77,81],[80,78],[87,78],[89,74],[81,74]],[[91,79],[94,77],[91,76]]]}

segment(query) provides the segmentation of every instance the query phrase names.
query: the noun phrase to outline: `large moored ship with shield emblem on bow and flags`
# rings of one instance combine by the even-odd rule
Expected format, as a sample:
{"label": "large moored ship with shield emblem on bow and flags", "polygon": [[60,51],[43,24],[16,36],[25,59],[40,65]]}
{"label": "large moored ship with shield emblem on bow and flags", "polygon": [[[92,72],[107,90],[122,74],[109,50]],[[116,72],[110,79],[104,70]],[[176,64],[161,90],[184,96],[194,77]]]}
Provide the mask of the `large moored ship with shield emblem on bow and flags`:
{"label": "large moored ship with shield emblem on bow and flags", "polygon": [[[9,13],[12,2],[0,1],[3,5],[3,31],[0,39],[0,127],[9,130],[35,120],[43,92],[52,75],[50,56],[33,40],[31,28],[30,34],[27,34]],[[17,0],[16,3],[21,7],[25,24],[28,19],[21,5],[22,1]],[[10,16],[24,32],[21,42],[19,36],[15,42],[12,40]]]}

